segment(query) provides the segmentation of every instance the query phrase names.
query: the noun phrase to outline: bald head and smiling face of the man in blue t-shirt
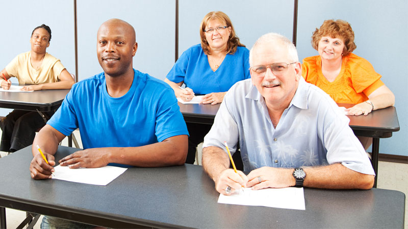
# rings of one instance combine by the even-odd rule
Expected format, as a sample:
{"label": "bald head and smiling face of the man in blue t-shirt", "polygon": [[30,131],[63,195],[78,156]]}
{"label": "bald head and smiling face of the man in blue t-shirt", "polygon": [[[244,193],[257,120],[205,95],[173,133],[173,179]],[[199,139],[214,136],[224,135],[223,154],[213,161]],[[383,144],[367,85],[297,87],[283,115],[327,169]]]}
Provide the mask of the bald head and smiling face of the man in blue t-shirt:
{"label": "bald head and smiling face of the man in blue t-shirt", "polygon": [[96,51],[106,75],[115,77],[133,71],[136,50],[135,30],[127,22],[111,19],[99,27]]}

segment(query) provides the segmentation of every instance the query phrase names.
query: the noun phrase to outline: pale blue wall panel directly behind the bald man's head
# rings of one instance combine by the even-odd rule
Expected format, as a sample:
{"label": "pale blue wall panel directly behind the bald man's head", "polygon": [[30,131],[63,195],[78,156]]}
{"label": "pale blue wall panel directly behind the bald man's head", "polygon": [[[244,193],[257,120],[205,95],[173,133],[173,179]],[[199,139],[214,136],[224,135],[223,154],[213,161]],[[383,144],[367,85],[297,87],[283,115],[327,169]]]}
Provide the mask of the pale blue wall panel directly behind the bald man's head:
{"label": "pale blue wall panel directly behind the bald man's head", "polygon": [[164,79],[174,64],[175,2],[87,0],[78,3],[79,80],[102,72],[96,58],[96,33],[110,18],[129,22],[136,30],[138,50],[133,67]]}

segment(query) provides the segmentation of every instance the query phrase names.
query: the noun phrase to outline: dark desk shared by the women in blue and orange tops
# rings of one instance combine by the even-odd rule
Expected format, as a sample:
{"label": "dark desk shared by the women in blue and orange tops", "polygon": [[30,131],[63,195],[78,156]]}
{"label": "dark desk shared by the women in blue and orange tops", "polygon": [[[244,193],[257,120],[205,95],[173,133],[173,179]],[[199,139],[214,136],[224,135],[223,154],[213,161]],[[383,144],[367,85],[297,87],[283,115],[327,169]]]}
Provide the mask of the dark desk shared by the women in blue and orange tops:
{"label": "dark desk shared by the women in blue and orange tops", "polygon": [[[338,105],[346,108],[353,106],[353,104],[344,103]],[[179,102],[179,106],[186,122],[212,125],[220,104],[182,104]],[[392,132],[399,131],[395,107],[374,110],[367,116],[347,117],[350,119],[349,126],[355,135],[373,138],[371,164],[378,176],[379,138],[391,137]],[[375,176],[374,187],[377,187],[377,176]]]}

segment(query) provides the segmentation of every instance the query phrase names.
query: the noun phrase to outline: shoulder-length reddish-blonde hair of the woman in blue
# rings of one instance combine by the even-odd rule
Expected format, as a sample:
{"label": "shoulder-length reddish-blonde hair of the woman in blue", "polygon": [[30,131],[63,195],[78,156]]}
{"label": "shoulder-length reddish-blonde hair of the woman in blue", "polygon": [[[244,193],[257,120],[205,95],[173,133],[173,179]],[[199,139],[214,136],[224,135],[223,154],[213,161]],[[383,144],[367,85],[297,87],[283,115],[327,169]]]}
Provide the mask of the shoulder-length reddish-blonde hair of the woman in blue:
{"label": "shoulder-length reddish-blonde hair of the woman in blue", "polygon": [[213,11],[208,13],[201,21],[200,25],[200,37],[201,37],[201,48],[206,53],[207,55],[211,54],[211,48],[206,40],[206,35],[205,35],[205,30],[208,22],[210,20],[219,20],[227,27],[231,27],[231,33],[230,37],[228,37],[228,42],[226,45],[226,53],[234,54],[235,51],[237,51],[237,46],[242,46],[245,47],[245,45],[241,44],[239,41],[239,38],[235,34],[234,26],[233,23],[231,22],[231,19],[223,12],[221,11]]}

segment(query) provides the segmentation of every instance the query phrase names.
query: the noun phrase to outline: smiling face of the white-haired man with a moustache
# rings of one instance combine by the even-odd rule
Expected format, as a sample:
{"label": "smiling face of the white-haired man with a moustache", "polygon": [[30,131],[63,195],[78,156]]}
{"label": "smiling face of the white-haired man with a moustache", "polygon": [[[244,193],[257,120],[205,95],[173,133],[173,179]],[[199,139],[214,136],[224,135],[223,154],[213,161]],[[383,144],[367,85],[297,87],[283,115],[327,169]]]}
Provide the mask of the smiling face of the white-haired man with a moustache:
{"label": "smiling face of the white-haired man with a moustache", "polygon": [[[279,41],[267,42],[253,47],[252,66],[270,65],[274,63],[293,63],[289,58],[287,48]],[[288,70],[282,74],[272,73],[267,68],[265,75],[257,75],[252,70],[252,84],[265,98],[268,108],[289,105],[295,95],[299,79],[301,77],[300,63],[289,65]]]}

